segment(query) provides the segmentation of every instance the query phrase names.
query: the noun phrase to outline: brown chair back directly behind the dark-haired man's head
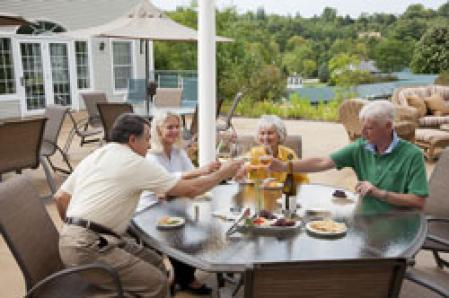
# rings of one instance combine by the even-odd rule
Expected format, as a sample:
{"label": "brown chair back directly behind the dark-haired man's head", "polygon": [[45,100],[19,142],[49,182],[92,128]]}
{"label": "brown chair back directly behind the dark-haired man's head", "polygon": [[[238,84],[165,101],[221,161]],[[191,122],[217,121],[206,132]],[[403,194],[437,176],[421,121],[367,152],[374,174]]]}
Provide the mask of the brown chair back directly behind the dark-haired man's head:
{"label": "brown chair back directly behind the dark-haired man's head", "polygon": [[110,142],[110,132],[115,119],[121,114],[132,113],[133,106],[129,103],[99,102],[97,108],[103,124],[104,140]]}

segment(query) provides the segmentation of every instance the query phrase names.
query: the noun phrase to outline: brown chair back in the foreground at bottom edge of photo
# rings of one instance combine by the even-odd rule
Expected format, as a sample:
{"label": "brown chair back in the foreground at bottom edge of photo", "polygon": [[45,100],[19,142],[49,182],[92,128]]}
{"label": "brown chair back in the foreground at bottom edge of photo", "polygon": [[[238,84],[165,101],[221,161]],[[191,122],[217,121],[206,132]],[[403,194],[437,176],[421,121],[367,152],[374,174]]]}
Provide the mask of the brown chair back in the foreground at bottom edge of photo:
{"label": "brown chair back in the foreground at bottom edge of photo", "polygon": [[254,264],[245,297],[397,297],[405,259]]}

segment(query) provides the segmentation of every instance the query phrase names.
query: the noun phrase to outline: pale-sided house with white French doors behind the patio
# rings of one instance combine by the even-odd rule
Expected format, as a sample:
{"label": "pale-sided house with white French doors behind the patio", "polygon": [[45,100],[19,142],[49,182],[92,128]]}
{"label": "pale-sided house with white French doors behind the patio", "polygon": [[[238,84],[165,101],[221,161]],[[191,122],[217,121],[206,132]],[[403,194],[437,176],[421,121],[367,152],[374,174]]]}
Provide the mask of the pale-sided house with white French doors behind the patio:
{"label": "pale-sided house with white French doors behind the patio", "polygon": [[102,90],[110,101],[122,101],[128,79],[144,77],[144,44],[55,33],[107,23],[140,1],[0,1],[1,12],[36,23],[0,27],[0,119],[42,114],[53,103],[79,110],[79,94],[89,90]]}

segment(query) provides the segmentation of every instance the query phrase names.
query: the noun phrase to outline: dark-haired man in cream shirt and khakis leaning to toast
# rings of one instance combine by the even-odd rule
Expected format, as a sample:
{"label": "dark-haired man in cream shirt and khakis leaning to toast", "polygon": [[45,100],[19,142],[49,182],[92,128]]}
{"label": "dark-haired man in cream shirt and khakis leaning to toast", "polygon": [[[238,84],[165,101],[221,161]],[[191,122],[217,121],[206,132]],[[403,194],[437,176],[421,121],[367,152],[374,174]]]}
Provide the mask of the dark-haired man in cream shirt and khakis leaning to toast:
{"label": "dark-haired man in cream shirt and khakis leaning to toast", "polygon": [[[183,180],[146,160],[150,124],[135,114],[121,115],[112,142],[86,157],[55,195],[65,218],[59,250],[66,266],[104,262],[119,274],[127,294],[165,297],[167,278],[154,251],[122,237],[143,190],[194,197],[231,177],[241,162],[229,162],[209,175]],[[106,289],[113,285],[101,280]]]}

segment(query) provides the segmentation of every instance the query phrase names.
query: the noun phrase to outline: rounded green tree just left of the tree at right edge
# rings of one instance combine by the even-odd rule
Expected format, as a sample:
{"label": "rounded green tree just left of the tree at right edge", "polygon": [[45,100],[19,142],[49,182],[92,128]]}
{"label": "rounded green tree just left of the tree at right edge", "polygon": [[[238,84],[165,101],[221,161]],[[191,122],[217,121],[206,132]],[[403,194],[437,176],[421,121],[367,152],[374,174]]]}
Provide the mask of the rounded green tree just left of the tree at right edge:
{"label": "rounded green tree just left of the tree at right edge", "polygon": [[407,42],[386,38],[375,46],[374,59],[383,72],[399,71],[409,65],[412,50],[413,44],[407,46]]}

